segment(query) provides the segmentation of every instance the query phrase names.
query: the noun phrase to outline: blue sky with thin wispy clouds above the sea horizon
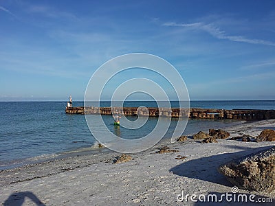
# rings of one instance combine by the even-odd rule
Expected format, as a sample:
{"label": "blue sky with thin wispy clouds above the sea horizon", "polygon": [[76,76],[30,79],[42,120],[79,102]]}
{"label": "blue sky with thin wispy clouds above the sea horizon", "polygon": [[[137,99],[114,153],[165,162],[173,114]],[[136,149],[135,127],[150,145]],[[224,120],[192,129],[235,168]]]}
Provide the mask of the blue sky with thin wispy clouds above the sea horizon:
{"label": "blue sky with thin wispy clouds above the sea horizon", "polygon": [[190,100],[275,100],[275,1],[0,0],[0,101],[83,100],[136,52],[170,62]]}

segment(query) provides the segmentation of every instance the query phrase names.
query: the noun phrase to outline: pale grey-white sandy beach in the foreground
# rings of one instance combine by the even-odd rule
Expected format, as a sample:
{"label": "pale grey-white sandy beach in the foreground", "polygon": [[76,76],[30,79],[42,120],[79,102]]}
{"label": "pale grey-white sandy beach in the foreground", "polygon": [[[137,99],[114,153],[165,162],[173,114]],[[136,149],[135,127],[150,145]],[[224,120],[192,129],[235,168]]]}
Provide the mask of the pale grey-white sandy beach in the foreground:
{"label": "pale grey-white sandy beach in the foreground", "polygon": [[[275,120],[249,122],[226,128],[230,137],[259,135],[265,128],[275,129]],[[0,172],[2,205],[216,205],[218,203],[182,201],[182,194],[220,197],[232,193],[225,176],[217,172],[219,165],[232,159],[274,146],[275,142],[241,142],[218,139],[201,144],[188,138],[165,144],[179,152],[157,154],[155,146],[131,154],[131,161],[113,163],[115,152],[75,155],[65,159],[27,165]],[[162,145],[164,146],[164,145]],[[185,159],[175,159],[177,155]],[[239,190],[236,194],[255,194],[273,203],[228,203],[219,205],[272,205],[275,193]],[[271,198],[271,199],[264,199]],[[261,199],[261,200],[262,200]]]}

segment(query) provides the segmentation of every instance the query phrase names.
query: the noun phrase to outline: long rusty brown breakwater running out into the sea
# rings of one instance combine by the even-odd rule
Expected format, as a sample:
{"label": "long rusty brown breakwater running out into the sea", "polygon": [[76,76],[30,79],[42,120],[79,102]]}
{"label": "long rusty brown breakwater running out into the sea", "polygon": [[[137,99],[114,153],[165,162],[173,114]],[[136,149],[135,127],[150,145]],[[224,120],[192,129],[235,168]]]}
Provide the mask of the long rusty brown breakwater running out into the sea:
{"label": "long rusty brown breakwater running out into the sea", "polygon": [[189,117],[194,119],[243,119],[263,120],[275,119],[275,110],[252,109],[214,109],[214,108],[155,108],[155,107],[71,107],[66,106],[66,113],[89,115],[112,115],[115,112],[124,115],[140,115],[149,117]]}

